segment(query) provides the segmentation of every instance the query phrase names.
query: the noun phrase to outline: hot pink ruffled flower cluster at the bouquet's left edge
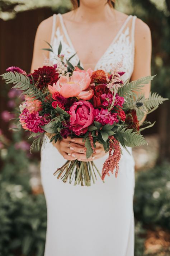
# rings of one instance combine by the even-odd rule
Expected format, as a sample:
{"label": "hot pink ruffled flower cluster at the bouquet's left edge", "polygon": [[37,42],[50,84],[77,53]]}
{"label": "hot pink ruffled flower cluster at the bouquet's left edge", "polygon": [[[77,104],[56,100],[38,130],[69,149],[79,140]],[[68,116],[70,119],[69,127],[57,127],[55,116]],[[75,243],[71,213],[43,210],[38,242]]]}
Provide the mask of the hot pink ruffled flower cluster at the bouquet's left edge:
{"label": "hot pink ruffled flower cluster at the bouquet's left edge", "polygon": [[44,132],[41,126],[49,123],[48,115],[40,116],[38,111],[30,113],[27,108],[19,115],[19,121],[25,130],[31,132]]}

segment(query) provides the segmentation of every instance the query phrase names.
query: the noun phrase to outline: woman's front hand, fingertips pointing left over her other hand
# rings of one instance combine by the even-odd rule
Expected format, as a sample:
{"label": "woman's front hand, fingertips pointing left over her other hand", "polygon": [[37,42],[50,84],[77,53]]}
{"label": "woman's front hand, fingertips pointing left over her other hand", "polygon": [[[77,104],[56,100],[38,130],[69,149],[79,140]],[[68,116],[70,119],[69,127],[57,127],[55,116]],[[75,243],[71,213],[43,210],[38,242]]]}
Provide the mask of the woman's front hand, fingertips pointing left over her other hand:
{"label": "woman's front hand, fingertips pointing left over her other hand", "polygon": [[[92,156],[90,156],[90,158],[86,158],[86,151],[85,151],[85,148],[82,146],[85,145],[84,142],[82,142],[82,138],[72,138],[70,140],[70,154],[72,157],[74,157],[74,159],[77,159],[79,161],[82,161],[82,162],[89,162],[89,161],[93,161],[95,159],[99,159],[101,158],[102,156],[104,156],[106,153],[104,151],[104,148],[103,148],[103,145],[100,144],[99,142],[95,142],[95,151],[96,153],[93,153]],[[80,147],[81,145],[81,147]]]}

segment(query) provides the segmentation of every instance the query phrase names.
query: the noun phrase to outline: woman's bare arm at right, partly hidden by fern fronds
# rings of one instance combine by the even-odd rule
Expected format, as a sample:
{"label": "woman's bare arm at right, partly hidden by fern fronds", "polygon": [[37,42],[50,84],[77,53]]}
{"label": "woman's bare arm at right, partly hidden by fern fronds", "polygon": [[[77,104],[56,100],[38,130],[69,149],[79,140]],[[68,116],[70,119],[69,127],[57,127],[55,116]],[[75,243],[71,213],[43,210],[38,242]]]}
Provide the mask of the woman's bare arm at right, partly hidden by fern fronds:
{"label": "woman's bare arm at right, partly hidden by fern fronds", "polygon": [[[151,75],[151,31],[150,28],[141,19],[136,19],[135,25],[135,54],[134,54],[134,70],[131,81],[137,80],[143,76]],[[145,97],[149,97],[151,84],[146,84],[142,93]],[[140,94],[140,92],[135,92]],[[143,122],[146,116],[141,120]]]}

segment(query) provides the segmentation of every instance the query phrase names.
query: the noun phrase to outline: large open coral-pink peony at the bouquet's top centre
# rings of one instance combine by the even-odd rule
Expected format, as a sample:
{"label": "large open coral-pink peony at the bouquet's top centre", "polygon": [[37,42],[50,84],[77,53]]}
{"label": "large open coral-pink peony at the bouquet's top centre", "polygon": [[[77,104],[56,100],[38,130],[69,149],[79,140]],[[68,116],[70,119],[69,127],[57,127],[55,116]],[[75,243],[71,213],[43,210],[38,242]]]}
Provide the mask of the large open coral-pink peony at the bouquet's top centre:
{"label": "large open coral-pink peony at the bouquet's top centre", "polygon": [[[89,94],[86,95],[87,92],[82,92],[89,87],[90,81],[88,72],[74,71],[69,78],[61,76],[56,84],[54,83],[53,86],[48,85],[48,89],[52,94],[59,92],[65,98],[75,96],[80,96],[79,98],[82,98],[86,96],[86,100],[90,100],[93,94],[89,92]],[[82,94],[80,94],[81,92]]]}

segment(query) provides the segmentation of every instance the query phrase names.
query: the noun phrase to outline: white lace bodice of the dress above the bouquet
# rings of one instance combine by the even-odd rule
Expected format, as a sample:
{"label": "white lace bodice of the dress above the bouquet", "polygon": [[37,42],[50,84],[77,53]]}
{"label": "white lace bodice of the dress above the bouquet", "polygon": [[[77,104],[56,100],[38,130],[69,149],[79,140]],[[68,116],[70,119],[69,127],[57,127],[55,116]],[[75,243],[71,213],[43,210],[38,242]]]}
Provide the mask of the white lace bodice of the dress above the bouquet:
{"label": "white lace bodice of the dress above the bouquet", "polygon": [[[110,72],[112,66],[116,65],[122,59],[122,71],[126,73],[122,76],[125,81],[131,78],[133,67],[134,67],[134,26],[136,16],[129,15],[126,21],[123,23],[121,29],[114,37],[112,43],[109,45],[103,56],[96,63],[94,70],[103,69]],[[73,54],[76,53],[74,46],[67,33],[65,24],[63,22],[62,15],[53,14],[53,26],[51,35],[51,45],[53,52],[58,53],[58,47],[60,42],[62,43],[61,54],[64,55],[65,59],[69,59]],[[49,52],[49,61],[51,64],[55,64],[54,54]],[[79,56],[76,54],[70,62],[72,65],[77,65],[79,62]],[[83,67],[82,63],[81,66]]]}

